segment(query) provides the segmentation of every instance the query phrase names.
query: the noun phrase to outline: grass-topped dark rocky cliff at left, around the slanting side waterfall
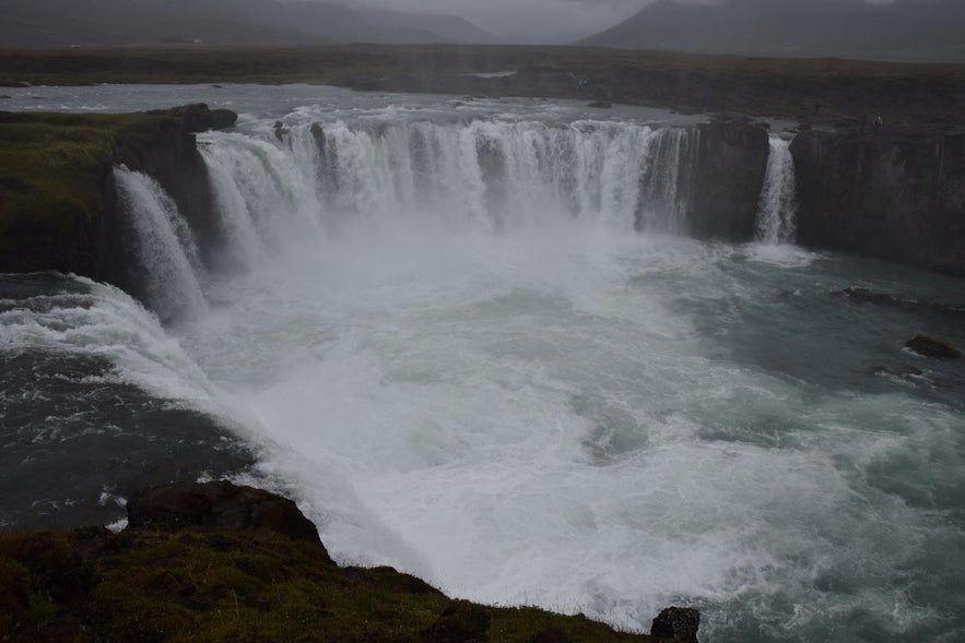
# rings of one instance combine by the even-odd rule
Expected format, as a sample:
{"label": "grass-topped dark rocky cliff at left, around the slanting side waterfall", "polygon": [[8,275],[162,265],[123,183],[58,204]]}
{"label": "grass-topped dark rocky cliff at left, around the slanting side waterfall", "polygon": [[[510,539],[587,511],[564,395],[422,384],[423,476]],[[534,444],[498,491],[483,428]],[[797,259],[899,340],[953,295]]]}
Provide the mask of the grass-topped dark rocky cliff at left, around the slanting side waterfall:
{"label": "grass-topped dark rocky cliff at left, around the slanting side waterfall", "polygon": [[0,112],[0,272],[57,270],[129,286],[113,167],[154,176],[203,233],[211,198],[195,132],[236,118],[204,105],[128,115]]}

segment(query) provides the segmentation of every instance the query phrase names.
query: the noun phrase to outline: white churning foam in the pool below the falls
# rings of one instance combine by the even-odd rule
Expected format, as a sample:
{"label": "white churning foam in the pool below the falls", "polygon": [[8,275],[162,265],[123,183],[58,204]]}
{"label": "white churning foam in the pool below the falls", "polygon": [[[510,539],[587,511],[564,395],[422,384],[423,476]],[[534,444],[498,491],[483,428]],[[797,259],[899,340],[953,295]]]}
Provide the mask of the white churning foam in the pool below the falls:
{"label": "white churning foam in the pool below the falls", "polygon": [[962,553],[954,505],[909,499],[962,481],[961,415],[708,355],[679,284],[756,300],[740,257],[579,222],[364,225],[231,283],[186,341],[341,560],[639,629],[685,600],[709,641],[941,631],[904,570]]}

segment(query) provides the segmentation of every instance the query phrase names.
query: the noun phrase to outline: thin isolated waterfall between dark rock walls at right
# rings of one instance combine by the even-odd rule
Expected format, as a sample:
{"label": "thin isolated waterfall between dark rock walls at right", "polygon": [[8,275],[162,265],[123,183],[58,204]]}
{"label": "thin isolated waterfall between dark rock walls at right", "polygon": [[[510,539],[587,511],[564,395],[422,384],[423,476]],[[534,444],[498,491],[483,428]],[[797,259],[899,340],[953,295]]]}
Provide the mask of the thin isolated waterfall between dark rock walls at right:
{"label": "thin isolated waterfall between dark rock walls at right", "polygon": [[796,210],[790,143],[770,136],[767,172],[757,202],[757,240],[770,245],[793,242]]}

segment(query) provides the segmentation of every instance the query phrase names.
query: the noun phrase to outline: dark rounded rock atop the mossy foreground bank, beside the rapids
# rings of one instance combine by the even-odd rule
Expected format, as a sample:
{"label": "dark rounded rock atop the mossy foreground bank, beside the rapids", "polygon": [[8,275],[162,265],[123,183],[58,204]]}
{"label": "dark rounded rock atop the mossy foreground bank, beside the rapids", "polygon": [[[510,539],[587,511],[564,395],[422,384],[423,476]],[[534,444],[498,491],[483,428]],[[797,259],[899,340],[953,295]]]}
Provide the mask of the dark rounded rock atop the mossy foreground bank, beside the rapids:
{"label": "dark rounded rock atop the mossy foreground bank, beside the rapids", "polygon": [[131,496],[128,526],[178,531],[221,527],[234,532],[271,529],[293,540],[318,543],[318,529],[294,502],[252,487],[221,480],[173,483],[149,487]]}

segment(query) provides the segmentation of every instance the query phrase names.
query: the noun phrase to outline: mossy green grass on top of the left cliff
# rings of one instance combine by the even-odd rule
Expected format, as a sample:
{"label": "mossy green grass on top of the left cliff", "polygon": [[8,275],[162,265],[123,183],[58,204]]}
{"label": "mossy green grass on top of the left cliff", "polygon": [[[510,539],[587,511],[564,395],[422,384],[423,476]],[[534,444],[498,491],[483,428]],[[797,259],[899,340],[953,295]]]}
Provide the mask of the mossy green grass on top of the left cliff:
{"label": "mossy green grass on top of the left cliff", "polygon": [[[170,120],[163,114],[0,112],[0,258],[74,238],[97,224],[114,163],[137,157]],[[38,267],[49,267],[43,265]]]}

